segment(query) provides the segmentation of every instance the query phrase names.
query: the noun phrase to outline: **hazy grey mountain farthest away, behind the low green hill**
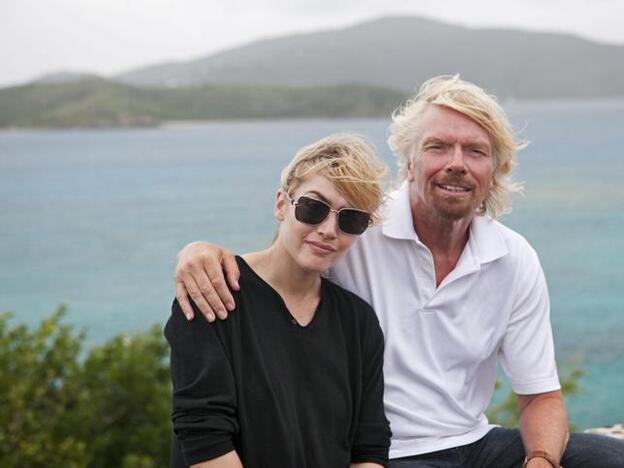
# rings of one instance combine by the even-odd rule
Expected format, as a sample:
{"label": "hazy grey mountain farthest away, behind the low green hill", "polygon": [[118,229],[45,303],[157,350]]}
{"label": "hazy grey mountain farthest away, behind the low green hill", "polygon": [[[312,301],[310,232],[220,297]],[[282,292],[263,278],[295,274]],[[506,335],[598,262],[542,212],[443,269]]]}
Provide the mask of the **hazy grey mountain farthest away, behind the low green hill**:
{"label": "hazy grey mountain farthest away, behind the low green hill", "polygon": [[624,96],[624,46],[390,17],[261,40],[114,79],[135,86],[360,83],[410,92],[427,78],[458,72],[504,98]]}

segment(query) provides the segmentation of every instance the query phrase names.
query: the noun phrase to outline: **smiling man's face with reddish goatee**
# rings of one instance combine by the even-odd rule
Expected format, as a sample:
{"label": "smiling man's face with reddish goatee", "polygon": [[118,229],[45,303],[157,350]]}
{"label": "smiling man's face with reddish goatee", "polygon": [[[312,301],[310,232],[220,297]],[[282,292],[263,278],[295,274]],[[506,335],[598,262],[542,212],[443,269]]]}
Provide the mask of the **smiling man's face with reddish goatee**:
{"label": "smiling man's face with reddish goatee", "polygon": [[412,206],[426,216],[472,219],[494,171],[486,131],[464,114],[430,105],[421,118],[416,151],[419,158],[409,164],[407,174]]}

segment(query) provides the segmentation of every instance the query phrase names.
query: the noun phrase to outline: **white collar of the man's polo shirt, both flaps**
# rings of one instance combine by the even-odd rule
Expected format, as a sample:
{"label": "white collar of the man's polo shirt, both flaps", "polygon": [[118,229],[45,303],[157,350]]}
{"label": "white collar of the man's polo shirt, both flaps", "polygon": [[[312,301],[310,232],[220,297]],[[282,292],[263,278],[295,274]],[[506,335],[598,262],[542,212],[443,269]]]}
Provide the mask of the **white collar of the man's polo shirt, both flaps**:
{"label": "white collar of the man's polo shirt, both flaps", "polygon": [[[407,181],[404,181],[397,190],[388,193],[382,215],[384,221],[381,230],[385,236],[420,243],[412,224]],[[501,225],[488,216],[475,216],[472,220],[466,247],[470,249],[478,263],[489,263],[509,252],[501,229]]]}

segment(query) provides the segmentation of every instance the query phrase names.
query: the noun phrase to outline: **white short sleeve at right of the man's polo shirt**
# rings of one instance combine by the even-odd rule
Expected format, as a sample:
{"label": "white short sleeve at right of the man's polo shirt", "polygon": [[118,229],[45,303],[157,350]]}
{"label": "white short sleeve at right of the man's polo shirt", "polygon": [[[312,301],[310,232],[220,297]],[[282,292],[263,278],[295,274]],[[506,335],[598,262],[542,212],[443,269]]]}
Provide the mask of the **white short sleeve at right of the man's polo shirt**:
{"label": "white short sleeve at right of the man's polo shirt", "polygon": [[511,317],[500,358],[515,393],[531,395],[560,388],[544,272],[527,244],[515,275]]}

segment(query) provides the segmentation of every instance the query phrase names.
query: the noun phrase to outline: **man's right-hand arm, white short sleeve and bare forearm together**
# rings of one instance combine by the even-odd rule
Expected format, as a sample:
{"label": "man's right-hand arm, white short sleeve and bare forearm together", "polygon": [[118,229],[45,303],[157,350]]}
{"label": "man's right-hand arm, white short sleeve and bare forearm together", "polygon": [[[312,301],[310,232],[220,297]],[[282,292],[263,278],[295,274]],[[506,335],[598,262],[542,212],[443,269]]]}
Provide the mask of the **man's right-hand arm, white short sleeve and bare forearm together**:
{"label": "man's right-hand arm, white short sleeve and bare forearm together", "polygon": [[[518,396],[520,433],[527,456],[547,452],[559,462],[567,440],[567,418],[560,392],[550,326],[550,301],[544,272],[535,251],[516,246],[512,312],[500,348],[501,364]],[[529,467],[552,466],[535,458]]]}

